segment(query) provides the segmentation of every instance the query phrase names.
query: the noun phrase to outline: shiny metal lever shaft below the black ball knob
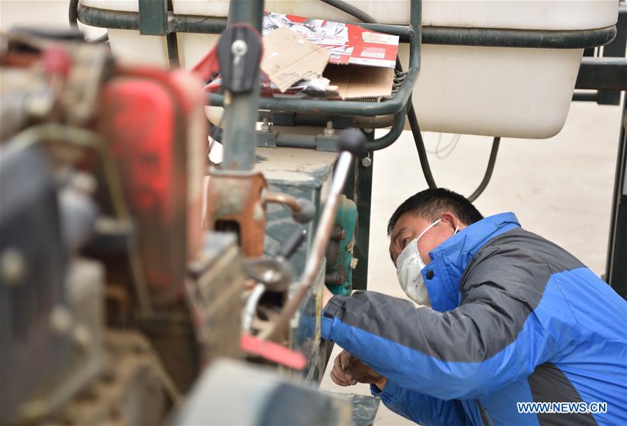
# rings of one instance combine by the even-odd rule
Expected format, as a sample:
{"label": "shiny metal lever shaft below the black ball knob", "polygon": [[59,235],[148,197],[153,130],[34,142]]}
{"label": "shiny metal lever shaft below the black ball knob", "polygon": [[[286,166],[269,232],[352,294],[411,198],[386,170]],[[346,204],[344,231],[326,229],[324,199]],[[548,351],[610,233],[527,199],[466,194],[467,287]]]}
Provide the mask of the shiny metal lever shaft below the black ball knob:
{"label": "shiny metal lever shaft below the black ball knob", "polygon": [[267,340],[274,342],[282,341],[285,331],[289,328],[289,320],[296,313],[296,310],[299,309],[299,306],[316,282],[315,279],[322,266],[322,259],[324,259],[328,238],[331,236],[331,231],[333,231],[335,215],[338,213],[338,206],[340,205],[340,196],[342,195],[344,184],[352,167],[352,161],[352,153],[347,151],[340,153],[340,158],[338,158],[338,162],[335,164],[335,174],[333,174],[331,188],[328,192],[326,204],[324,204],[324,208],[322,209],[316,236],[309,257],[307,258],[307,263],[305,264],[305,271],[301,277],[299,289],[296,290],[294,296],[292,296],[292,298],[287,301],[285,307],[283,307],[278,320],[266,337]]}

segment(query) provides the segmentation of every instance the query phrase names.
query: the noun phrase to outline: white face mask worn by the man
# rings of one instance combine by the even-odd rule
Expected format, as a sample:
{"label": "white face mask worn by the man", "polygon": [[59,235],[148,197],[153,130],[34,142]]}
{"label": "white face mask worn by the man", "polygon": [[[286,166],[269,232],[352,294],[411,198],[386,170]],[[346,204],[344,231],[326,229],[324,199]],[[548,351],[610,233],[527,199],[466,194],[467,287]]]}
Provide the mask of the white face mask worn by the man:
{"label": "white face mask worn by the man", "polygon": [[[420,305],[431,306],[431,301],[429,300],[427,286],[425,285],[425,280],[421,273],[423,268],[425,268],[425,262],[423,262],[423,259],[421,259],[418,253],[418,240],[426,231],[435,227],[440,220],[441,219],[438,219],[433,222],[418,235],[418,238],[407,244],[396,259],[396,275],[398,276],[400,287],[412,301]],[[457,234],[458,230],[459,227],[455,228],[453,235]]]}

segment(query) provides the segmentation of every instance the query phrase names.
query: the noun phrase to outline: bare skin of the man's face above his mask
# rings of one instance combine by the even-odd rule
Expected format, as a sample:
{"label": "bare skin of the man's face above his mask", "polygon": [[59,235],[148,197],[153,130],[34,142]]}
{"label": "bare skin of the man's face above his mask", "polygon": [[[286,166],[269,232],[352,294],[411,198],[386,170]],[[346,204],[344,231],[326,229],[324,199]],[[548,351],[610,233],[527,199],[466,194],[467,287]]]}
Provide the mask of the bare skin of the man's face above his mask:
{"label": "bare skin of the man's face above his mask", "polygon": [[[402,250],[411,241],[414,241],[425,229],[432,224],[432,220],[416,217],[412,213],[405,213],[394,225],[390,236],[390,256],[396,264],[396,259]],[[431,227],[418,240],[418,253],[425,265],[431,261],[429,252],[435,249],[455,233],[455,228],[463,229],[462,224],[452,213],[444,213],[442,220],[434,227]]]}

